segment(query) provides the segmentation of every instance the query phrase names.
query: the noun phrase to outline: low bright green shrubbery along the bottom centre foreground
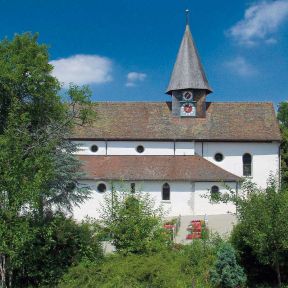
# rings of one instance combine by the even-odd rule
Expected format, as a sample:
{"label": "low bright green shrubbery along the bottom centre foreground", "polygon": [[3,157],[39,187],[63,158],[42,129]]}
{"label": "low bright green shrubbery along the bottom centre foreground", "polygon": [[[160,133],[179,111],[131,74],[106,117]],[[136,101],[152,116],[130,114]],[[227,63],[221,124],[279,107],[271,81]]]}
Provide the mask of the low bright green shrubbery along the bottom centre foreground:
{"label": "low bright green shrubbery along the bottom centre foreground", "polygon": [[81,263],[64,275],[59,288],[212,288],[209,270],[216,247],[197,240],[154,254],[115,254],[100,265]]}

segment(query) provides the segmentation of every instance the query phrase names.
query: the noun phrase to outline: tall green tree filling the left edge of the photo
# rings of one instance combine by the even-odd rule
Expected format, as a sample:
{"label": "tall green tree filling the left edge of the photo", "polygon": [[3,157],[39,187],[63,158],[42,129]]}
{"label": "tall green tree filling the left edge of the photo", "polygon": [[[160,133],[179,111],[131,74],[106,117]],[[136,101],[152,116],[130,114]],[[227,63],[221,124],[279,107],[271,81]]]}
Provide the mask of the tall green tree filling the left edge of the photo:
{"label": "tall green tree filling the left edge of the photo", "polygon": [[78,183],[80,162],[67,137],[92,116],[91,93],[72,85],[64,103],[47,47],[37,41],[26,33],[0,42],[2,287],[13,286],[14,271],[25,265],[20,252],[46,218],[89,197]]}

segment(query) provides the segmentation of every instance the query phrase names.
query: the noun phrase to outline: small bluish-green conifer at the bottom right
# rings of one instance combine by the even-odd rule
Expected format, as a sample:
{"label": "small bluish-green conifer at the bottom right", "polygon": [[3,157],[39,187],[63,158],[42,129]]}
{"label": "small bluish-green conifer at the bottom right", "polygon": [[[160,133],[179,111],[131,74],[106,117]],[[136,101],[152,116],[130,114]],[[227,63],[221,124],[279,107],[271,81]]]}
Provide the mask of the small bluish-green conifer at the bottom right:
{"label": "small bluish-green conifer at the bottom right", "polygon": [[217,252],[214,269],[211,270],[211,282],[216,287],[238,288],[246,283],[246,275],[237,264],[235,250],[231,244],[223,244]]}

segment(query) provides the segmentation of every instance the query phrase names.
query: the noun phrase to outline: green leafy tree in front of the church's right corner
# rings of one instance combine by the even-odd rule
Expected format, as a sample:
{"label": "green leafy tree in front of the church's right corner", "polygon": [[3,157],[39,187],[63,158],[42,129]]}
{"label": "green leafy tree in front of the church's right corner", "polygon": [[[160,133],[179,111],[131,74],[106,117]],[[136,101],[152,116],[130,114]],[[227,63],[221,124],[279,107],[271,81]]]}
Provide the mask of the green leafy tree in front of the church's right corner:
{"label": "green leafy tree in front of the church's right corner", "polygon": [[221,195],[219,201],[234,202],[238,227],[245,232],[243,244],[251,248],[259,263],[273,268],[280,287],[283,254],[288,250],[287,188],[280,188],[272,177],[265,189],[247,181],[242,184],[242,193],[230,191]]}

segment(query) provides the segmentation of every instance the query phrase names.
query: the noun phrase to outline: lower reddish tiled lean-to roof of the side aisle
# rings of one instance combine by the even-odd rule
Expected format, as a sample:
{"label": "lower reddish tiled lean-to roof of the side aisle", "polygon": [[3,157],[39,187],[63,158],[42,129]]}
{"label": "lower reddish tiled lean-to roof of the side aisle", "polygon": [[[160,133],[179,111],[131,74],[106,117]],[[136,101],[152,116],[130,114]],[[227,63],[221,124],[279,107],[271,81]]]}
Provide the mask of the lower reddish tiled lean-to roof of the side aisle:
{"label": "lower reddish tiled lean-to roof of the side aisle", "polygon": [[239,181],[240,177],[200,156],[78,156],[85,179]]}

